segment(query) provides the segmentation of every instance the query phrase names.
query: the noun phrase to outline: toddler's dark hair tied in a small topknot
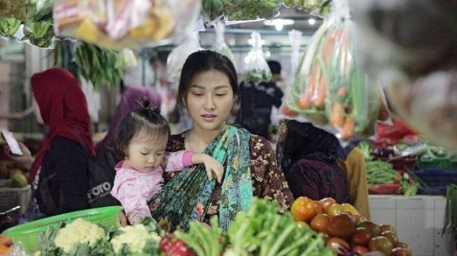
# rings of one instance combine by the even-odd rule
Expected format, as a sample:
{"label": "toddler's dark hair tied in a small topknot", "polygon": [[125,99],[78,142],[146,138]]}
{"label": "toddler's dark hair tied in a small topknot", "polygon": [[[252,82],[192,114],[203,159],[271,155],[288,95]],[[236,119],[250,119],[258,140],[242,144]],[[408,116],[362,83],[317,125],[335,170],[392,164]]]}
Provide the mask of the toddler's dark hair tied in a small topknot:
{"label": "toddler's dark hair tied in a small topknot", "polygon": [[118,125],[115,134],[115,152],[120,159],[127,156],[129,143],[137,134],[143,133],[157,141],[167,140],[170,127],[167,120],[160,115],[160,108],[151,108],[148,99],[142,100],[143,107],[125,115]]}

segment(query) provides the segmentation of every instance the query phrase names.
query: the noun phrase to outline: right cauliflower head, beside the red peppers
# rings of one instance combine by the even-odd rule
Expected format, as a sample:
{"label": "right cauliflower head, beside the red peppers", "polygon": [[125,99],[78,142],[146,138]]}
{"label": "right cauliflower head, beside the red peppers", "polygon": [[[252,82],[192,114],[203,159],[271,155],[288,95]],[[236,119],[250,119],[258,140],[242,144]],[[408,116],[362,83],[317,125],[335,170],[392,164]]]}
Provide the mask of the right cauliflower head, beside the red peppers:
{"label": "right cauliflower head, beside the red peppers", "polygon": [[143,225],[121,227],[119,231],[122,234],[111,239],[115,254],[120,253],[124,244],[129,247],[130,253],[143,253],[146,243],[151,239],[157,244],[160,242],[160,236],[155,232],[148,232]]}

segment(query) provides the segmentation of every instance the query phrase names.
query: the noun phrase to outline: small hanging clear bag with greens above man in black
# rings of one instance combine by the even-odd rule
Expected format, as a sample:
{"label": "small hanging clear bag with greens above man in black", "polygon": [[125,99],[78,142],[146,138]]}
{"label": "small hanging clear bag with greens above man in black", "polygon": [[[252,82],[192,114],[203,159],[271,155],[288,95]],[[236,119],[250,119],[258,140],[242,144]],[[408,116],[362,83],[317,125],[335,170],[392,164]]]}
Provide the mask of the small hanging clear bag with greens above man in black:
{"label": "small hanging clear bag with greens above man in black", "polygon": [[244,57],[244,80],[254,83],[268,82],[272,79],[272,71],[269,70],[265,55],[262,51],[262,38],[258,32],[251,34],[248,43],[253,46],[248,55]]}

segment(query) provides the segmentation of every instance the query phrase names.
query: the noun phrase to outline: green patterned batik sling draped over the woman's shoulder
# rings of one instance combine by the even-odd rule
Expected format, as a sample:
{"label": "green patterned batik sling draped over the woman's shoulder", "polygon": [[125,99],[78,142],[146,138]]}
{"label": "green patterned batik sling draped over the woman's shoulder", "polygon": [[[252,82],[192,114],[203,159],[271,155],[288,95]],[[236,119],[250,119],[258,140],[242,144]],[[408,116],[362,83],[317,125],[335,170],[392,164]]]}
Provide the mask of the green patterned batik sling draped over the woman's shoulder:
{"label": "green patterned batik sling draped over the woman's shoulder", "polygon": [[[227,229],[237,212],[246,211],[253,199],[249,132],[227,125],[204,153],[226,166],[219,223]],[[178,227],[188,229],[190,220],[204,220],[215,187],[216,180],[208,180],[204,164],[183,169],[149,201],[151,214],[168,232]]]}

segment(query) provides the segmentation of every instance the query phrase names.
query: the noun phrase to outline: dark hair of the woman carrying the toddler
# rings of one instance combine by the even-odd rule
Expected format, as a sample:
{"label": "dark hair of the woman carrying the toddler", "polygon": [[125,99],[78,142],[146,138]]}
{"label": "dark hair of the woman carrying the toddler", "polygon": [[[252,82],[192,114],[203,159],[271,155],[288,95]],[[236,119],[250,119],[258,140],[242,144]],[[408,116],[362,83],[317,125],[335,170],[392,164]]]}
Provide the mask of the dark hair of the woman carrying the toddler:
{"label": "dark hair of the woman carrying the toddler", "polygon": [[185,59],[181,79],[178,87],[178,102],[185,104],[185,97],[188,94],[189,83],[192,78],[200,72],[217,69],[227,75],[232,86],[233,94],[239,95],[237,70],[230,59],[213,50],[199,50]]}

